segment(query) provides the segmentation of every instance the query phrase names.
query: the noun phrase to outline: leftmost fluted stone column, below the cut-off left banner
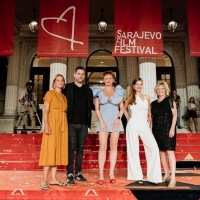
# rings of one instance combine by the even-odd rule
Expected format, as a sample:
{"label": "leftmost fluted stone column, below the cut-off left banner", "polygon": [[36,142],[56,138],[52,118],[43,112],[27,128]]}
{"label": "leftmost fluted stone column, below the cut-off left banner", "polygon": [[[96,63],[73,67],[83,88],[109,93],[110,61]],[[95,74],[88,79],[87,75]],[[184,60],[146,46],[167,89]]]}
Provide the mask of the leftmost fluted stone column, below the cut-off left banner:
{"label": "leftmost fluted stone column, below the cut-off left banner", "polygon": [[14,54],[8,59],[8,73],[6,84],[6,98],[4,115],[16,115],[17,108],[17,86],[19,73],[19,53],[20,43],[19,39],[14,42]]}

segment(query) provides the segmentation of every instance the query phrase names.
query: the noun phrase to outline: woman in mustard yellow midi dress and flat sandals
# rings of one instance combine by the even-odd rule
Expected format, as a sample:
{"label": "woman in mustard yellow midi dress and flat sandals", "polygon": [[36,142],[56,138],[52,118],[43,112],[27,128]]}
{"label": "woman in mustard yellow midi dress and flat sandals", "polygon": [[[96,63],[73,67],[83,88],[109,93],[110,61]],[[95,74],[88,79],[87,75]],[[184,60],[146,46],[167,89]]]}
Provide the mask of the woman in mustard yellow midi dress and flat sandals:
{"label": "woman in mustard yellow midi dress and flat sandals", "polygon": [[64,77],[58,74],[52,83],[53,90],[48,91],[44,97],[44,133],[39,159],[39,166],[44,167],[42,190],[49,189],[50,168],[49,185],[66,185],[56,178],[57,166],[68,164],[67,99],[61,92],[64,87]]}

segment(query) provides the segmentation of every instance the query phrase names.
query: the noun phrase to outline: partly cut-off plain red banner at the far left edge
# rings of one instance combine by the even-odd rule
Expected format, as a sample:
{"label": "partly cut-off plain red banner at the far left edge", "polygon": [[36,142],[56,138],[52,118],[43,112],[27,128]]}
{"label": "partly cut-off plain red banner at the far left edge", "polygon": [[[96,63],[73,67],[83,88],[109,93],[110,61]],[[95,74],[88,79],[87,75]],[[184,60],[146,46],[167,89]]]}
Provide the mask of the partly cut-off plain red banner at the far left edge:
{"label": "partly cut-off plain red banner at the far left edge", "polygon": [[13,54],[15,0],[2,0],[0,12],[0,56]]}

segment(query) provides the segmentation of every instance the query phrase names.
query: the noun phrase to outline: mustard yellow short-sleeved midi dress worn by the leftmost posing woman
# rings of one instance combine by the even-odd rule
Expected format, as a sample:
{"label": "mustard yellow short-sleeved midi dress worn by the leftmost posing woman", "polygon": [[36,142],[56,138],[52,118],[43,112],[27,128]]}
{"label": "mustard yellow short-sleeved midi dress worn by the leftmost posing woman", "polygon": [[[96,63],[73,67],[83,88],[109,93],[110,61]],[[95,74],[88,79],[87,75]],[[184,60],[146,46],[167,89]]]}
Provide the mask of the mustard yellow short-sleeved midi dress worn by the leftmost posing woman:
{"label": "mustard yellow short-sleeved midi dress worn by the leftmost posing woman", "polygon": [[67,99],[56,90],[48,91],[44,101],[49,103],[50,134],[43,133],[39,166],[68,164]]}

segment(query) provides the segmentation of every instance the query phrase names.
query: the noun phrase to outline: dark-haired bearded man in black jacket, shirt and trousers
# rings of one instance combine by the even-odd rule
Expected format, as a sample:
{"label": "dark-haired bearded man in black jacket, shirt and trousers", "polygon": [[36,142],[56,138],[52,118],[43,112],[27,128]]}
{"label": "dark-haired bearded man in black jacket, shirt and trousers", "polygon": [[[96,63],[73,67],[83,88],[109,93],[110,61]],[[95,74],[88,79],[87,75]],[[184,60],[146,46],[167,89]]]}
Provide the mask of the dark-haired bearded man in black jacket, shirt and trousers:
{"label": "dark-haired bearded man in black jacket, shirt and trousers", "polygon": [[[74,179],[81,182],[87,181],[81,174],[83,148],[86,136],[88,134],[88,127],[91,127],[92,109],[94,109],[92,90],[84,85],[85,69],[83,67],[76,67],[74,79],[74,82],[66,84],[63,91],[68,102],[68,185],[74,185]],[[76,151],[75,174],[73,169],[74,151]]]}

